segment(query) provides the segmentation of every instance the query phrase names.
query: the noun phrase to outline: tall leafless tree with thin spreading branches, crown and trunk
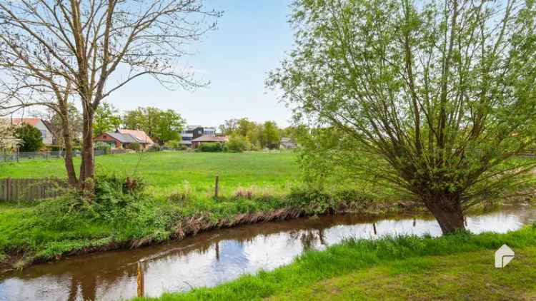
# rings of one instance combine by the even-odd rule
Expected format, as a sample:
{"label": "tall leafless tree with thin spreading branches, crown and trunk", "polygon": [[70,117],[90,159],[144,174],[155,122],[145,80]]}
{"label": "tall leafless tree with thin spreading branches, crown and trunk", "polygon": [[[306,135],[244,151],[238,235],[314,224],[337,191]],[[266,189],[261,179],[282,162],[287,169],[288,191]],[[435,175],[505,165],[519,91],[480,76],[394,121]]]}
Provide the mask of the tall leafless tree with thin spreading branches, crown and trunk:
{"label": "tall leafless tree with thin spreading branches, crown and trunk", "polygon": [[[184,44],[214,29],[219,16],[200,0],[0,0],[0,68],[13,77],[4,81],[4,96],[26,91],[41,99],[54,96],[54,103],[79,101],[79,183],[88,188],[86,180],[94,175],[92,123],[101,101],[141,76],[167,88],[207,85],[194,81],[179,59],[188,54]],[[19,97],[21,105],[30,103]]]}

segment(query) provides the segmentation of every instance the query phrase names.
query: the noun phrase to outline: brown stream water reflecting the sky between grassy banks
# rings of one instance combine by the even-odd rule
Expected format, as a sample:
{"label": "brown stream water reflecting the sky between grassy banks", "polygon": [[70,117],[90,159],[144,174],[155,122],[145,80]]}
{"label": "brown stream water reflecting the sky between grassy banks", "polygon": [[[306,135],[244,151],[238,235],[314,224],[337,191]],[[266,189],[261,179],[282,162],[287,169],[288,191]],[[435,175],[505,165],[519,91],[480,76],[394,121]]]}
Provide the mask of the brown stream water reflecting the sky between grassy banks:
{"label": "brown stream water reflecting the sky between grassy banks", "polygon": [[[473,233],[505,233],[536,220],[536,209],[512,206],[467,218]],[[214,230],[177,242],[99,252],[0,275],[0,300],[121,300],[135,297],[137,262],[145,260],[146,295],[214,286],[258,270],[273,270],[307,248],[322,250],[345,238],[440,235],[435,220],[371,220],[359,215],[300,218]]]}

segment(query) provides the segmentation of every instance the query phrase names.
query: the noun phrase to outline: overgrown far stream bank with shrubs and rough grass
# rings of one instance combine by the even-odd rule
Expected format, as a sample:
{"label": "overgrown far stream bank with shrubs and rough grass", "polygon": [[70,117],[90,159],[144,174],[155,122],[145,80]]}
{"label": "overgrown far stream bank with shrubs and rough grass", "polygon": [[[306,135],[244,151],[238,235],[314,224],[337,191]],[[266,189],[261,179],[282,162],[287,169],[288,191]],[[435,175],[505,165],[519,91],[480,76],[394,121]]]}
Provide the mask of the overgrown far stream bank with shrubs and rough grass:
{"label": "overgrown far stream bank with shrubs and rough grass", "polygon": [[199,198],[183,185],[168,198],[155,198],[140,180],[129,181],[98,176],[94,195],[66,191],[37,205],[2,205],[0,260],[23,267],[77,252],[136,248],[242,223],[381,210],[374,195],[357,190],[292,188],[287,195],[277,195],[240,188],[214,199]]}

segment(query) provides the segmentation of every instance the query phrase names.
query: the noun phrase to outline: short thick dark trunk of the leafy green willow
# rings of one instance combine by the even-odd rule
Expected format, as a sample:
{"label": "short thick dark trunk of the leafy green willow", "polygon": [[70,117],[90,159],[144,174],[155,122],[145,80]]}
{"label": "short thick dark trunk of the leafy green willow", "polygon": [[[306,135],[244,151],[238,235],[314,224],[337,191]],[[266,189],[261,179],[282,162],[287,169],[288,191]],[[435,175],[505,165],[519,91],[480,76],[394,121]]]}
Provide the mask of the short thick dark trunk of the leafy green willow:
{"label": "short thick dark trunk of the leafy green willow", "polygon": [[465,230],[462,205],[457,198],[438,196],[433,200],[426,200],[425,205],[440,224],[443,234]]}

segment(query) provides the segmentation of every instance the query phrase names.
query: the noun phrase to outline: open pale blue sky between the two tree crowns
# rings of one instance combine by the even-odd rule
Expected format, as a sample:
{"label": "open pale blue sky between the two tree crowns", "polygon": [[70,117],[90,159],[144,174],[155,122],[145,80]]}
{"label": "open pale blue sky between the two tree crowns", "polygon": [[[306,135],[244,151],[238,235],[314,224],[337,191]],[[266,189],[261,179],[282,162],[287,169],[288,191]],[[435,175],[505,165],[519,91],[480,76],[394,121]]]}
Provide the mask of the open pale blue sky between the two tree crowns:
{"label": "open pale blue sky between the two tree crowns", "polygon": [[206,0],[207,8],[224,11],[218,29],[192,45],[194,56],[183,65],[208,88],[169,91],[152,78],[140,78],[107,98],[119,110],[138,106],[171,108],[188,124],[219,126],[229,118],[276,121],[288,126],[291,113],[264,87],[267,72],[277,68],[292,47],[287,23],[290,0]]}

